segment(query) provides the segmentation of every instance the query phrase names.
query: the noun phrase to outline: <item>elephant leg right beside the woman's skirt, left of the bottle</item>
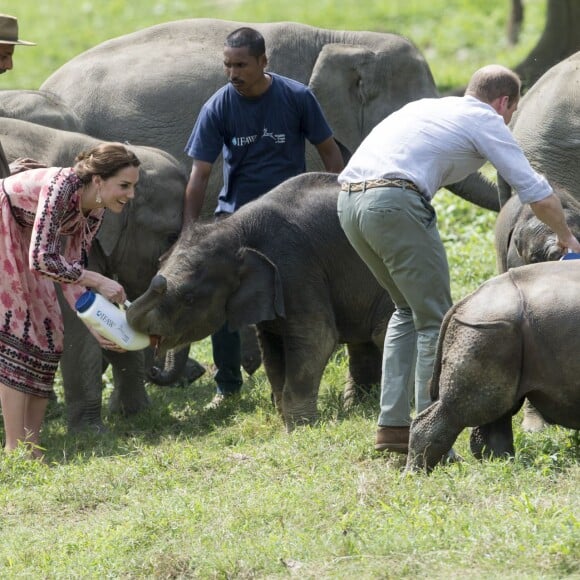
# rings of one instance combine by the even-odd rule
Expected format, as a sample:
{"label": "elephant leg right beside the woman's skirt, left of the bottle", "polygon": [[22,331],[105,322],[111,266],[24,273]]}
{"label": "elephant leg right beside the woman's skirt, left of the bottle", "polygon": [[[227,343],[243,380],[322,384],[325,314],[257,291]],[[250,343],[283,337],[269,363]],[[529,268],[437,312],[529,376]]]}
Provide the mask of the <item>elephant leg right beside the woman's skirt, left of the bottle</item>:
{"label": "elephant leg right beside the woman's skirt, left of the bottle", "polygon": [[103,356],[101,347],[70,308],[57,285],[64,321],[64,350],[60,359],[67,428],[104,431],[102,420]]}

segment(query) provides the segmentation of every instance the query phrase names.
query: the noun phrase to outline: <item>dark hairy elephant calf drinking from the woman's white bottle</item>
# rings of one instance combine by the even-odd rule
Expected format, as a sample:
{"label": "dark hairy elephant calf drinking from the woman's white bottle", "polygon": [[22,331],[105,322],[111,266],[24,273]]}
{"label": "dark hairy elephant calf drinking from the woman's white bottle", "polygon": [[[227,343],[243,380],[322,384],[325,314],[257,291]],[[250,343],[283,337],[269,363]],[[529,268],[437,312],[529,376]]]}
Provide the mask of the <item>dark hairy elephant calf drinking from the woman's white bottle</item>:
{"label": "dark hairy elephant calf drinking from the woman's white bottle", "polygon": [[317,417],[324,368],[346,343],[348,400],[377,384],[393,303],[349,244],[336,176],[285,181],[232,217],[192,224],[127,319],[161,350],[227,321],[255,324],[274,401],[288,430]]}

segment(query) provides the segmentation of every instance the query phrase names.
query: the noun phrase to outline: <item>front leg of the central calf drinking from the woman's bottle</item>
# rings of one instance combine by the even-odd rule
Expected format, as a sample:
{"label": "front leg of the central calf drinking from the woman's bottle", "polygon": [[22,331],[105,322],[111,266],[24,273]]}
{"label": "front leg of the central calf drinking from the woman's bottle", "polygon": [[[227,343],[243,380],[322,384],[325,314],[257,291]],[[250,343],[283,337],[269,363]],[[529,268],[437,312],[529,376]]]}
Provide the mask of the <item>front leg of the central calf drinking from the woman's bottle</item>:
{"label": "front leg of the central calf drinking from the woman's bottle", "polygon": [[313,336],[284,337],[286,375],[282,410],[288,432],[318,419],[320,381],[337,343],[336,332],[322,324]]}

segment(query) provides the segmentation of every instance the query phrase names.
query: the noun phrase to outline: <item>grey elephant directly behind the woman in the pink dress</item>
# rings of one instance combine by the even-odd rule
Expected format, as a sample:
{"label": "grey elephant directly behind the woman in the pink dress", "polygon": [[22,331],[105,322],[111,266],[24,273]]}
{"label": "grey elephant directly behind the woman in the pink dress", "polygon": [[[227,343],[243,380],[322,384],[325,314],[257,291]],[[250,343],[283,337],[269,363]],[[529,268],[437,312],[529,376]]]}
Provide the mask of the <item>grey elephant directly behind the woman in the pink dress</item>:
{"label": "grey elephant directly behind the woman in the pink dress", "polygon": [[[100,139],[0,118],[0,140],[8,159],[31,157],[46,165],[72,165],[80,151]],[[89,267],[117,279],[129,299],[142,294],[158,268],[159,257],[177,239],[182,223],[186,176],[168,153],[133,146],[142,161],[137,195],[121,214],[107,212],[89,254]],[[101,351],[66,301],[60,299],[65,321],[61,359],[69,429],[102,428],[103,355],[113,368],[111,409],[134,413],[148,405],[144,386],[145,353]]]}

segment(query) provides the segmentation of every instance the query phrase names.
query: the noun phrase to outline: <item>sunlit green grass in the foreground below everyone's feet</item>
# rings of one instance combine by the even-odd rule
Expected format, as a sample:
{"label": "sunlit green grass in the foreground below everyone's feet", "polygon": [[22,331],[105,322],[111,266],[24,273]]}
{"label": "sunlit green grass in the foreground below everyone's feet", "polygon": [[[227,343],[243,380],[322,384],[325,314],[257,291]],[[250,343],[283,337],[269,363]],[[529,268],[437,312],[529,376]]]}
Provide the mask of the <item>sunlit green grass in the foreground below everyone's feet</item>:
{"label": "sunlit green grass in the foreground below everyone's feet", "polygon": [[[209,379],[151,387],[153,407],[68,436],[52,410],[49,466],[0,459],[3,577],[565,577],[580,572],[578,444],[516,428],[513,462],[404,477],[372,451],[376,400],[288,436],[261,376],[233,414],[206,412]],[[516,419],[516,424],[519,420]]]}

